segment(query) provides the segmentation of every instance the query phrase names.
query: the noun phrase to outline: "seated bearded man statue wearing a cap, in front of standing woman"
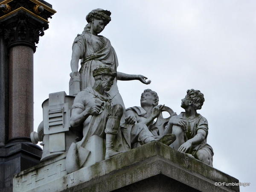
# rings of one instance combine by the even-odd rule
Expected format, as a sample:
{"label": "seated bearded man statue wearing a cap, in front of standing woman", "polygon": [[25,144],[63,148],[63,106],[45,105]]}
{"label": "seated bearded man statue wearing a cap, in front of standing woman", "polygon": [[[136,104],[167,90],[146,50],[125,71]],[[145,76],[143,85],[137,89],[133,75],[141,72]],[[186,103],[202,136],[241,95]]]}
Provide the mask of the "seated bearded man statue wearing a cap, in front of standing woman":
{"label": "seated bearded man statue wearing a cap, in front of standing woman", "polygon": [[[174,134],[166,134],[156,139],[143,123],[128,125],[119,131],[123,108],[119,104],[112,105],[112,98],[107,93],[113,85],[116,72],[111,67],[99,65],[93,70],[93,77],[95,79],[93,87],[87,87],[79,92],[72,107],[71,126],[83,125],[84,127],[83,139],[76,143],[77,145],[84,147],[88,138],[93,135],[106,138],[105,159],[107,159],[118,154],[119,151],[130,150],[132,142],[140,142],[143,145],[159,140],[170,145],[175,140]],[[87,121],[87,119],[90,120]],[[130,118],[126,118],[126,121],[129,120]],[[82,166],[81,162],[80,166]]]}

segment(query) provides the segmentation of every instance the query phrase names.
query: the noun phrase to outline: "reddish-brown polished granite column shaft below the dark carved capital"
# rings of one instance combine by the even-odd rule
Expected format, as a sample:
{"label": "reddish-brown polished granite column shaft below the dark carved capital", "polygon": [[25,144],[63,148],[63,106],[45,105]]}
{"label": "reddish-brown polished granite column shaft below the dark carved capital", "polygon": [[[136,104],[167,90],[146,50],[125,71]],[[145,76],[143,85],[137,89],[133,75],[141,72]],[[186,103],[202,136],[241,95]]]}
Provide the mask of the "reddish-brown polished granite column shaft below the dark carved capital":
{"label": "reddish-brown polished granite column shaft below the dark carved capital", "polygon": [[10,48],[9,141],[29,141],[33,131],[33,54],[29,46]]}

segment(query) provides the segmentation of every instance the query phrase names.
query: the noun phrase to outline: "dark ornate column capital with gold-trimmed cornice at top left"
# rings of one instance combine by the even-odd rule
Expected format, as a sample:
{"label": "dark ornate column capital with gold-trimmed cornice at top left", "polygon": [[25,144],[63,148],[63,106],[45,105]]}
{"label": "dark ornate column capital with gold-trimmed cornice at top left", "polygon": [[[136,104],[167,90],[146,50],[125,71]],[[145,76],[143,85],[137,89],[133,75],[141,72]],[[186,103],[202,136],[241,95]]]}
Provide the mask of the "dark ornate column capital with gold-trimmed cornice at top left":
{"label": "dark ornate column capital with gold-trimmed cornice at top left", "polygon": [[38,0],[5,0],[0,8],[0,35],[8,47],[26,45],[35,52],[39,37],[49,28],[48,18],[56,11]]}

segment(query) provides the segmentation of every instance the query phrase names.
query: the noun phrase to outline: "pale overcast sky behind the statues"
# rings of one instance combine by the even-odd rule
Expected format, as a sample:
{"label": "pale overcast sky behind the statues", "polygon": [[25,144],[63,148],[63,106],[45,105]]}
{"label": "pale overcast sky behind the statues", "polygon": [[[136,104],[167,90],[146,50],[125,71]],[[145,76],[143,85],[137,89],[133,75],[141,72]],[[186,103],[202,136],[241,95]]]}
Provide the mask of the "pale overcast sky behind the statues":
{"label": "pale overcast sky behind the statues", "polygon": [[125,107],[139,106],[144,89],[176,113],[187,89],[204,93],[199,113],[209,123],[213,166],[256,191],[256,1],[47,0],[57,13],[34,57],[34,129],[49,93],[66,91],[73,40],[92,9],[112,12],[100,34],[111,41],[118,71],[142,74],[150,85],[118,81]]}

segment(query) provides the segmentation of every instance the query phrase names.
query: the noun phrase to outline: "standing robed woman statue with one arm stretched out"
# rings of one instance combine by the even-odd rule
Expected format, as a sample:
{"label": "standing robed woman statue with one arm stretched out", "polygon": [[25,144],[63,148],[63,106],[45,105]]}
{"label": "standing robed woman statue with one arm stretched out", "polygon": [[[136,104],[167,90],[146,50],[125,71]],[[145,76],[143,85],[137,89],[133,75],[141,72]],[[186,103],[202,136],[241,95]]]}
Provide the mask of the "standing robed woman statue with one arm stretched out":
{"label": "standing robed woman statue with one arm stretched out", "polygon": [[[113,68],[116,72],[118,61],[116,52],[111,46],[110,41],[102,35],[105,26],[111,21],[111,12],[103,9],[94,9],[87,16],[88,24],[85,26],[82,34],[79,34],[73,43],[71,59],[71,78],[80,76],[80,90],[86,87],[92,87],[94,84],[93,70],[100,64],[105,64]],[[79,68],[79,59],[81,59],[81,68]],[[145,76],[130,75],[116,72],[116,80],[129,81],[139,80],[144,84],[150,84]],[[122,97],[119,94],[116,80],[109,91],[113,105],[121,104],[124,107]],[[125,107],[124,107],[125,109]]]}

